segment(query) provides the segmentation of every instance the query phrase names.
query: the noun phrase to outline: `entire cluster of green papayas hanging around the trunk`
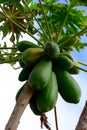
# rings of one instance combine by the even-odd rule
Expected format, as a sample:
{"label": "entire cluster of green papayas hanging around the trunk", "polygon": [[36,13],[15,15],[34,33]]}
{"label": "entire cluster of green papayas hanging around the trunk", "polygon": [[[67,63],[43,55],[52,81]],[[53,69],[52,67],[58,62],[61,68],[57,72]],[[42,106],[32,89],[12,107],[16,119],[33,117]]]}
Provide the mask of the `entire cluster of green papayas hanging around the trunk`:
{"label": "entire cluster of green papayas hanging around the trunk", "polygon": [[[18,43],[22,52],[19,64],[20,81],[27,81],[35,93],[29,101],[34,114],[41,115],[50,111],[57,102],[58,93],[68,103],[78,103],[81,89],[71,74],[79,73],[79,64],[69,52],[61,51],[55,42],[48,42],[44,48],[32,42]],[[78,66],[78,67],[76,67]],[[19,89],[16,100],[23,90]]]}

